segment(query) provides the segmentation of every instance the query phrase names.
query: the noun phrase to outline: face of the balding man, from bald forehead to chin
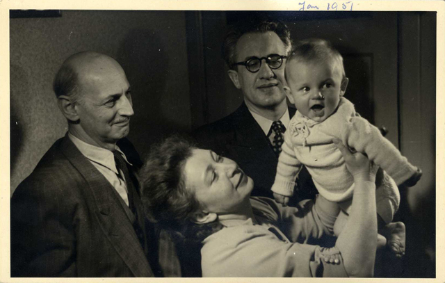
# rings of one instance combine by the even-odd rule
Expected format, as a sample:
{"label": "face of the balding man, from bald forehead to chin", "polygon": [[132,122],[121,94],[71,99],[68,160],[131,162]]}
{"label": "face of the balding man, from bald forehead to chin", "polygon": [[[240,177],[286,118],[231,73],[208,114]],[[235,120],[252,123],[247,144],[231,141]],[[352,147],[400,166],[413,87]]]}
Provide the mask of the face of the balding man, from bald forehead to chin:
{"label": "face of the balding man, from bald forehead to chin", "polygon": [[130,131],[133,115],[130,85],[117,62],[110,58],[96,61],[79,72],[81,99],[76,109],[86,141],[113,149]]}

